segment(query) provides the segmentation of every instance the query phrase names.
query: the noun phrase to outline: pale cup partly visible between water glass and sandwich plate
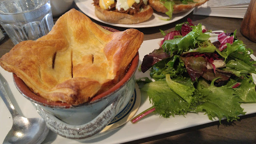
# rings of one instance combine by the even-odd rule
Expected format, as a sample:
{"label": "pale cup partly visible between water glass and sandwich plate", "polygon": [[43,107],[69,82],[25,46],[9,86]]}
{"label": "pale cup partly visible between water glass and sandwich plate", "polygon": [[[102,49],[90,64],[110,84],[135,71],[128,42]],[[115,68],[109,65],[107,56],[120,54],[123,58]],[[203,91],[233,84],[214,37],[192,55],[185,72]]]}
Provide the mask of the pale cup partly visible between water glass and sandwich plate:
{"label": "pale cup partly visible between water glass and sandwich plate", "polygon": [[74,0],[51,0],[52,16],[60,16],[70,9]]}

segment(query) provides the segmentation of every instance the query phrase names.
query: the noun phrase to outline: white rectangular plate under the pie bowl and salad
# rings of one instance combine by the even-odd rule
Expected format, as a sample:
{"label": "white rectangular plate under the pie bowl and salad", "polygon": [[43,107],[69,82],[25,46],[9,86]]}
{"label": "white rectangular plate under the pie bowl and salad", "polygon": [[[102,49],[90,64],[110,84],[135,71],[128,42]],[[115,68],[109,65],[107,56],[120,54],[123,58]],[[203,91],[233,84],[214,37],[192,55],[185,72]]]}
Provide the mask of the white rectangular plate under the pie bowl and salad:
{"label": "white rectangular plate under the pie bowl and salad", "polygon": [[[142,63],[142,59],[146,54],[149,54],[154,49],[159,47],[157,42],[162,39],[163,38],[146,40],[142,43],[139,49],[139,65]],[[37,114],[36,109],[32,106],[32,103],[24,98],[24,96],[22,96],[14,86],[12,73],[6,72],[1,67],[0,73],[0,78],[6,88],[6,92],[9,94],[9,97],[12,100],[14,106],[16,106],[17,111],[27,118],[40,117],[39,114]],[[145,76],[148,77],[149,71],[142,73],[137,70],[135,76],[136,78]],[[150,104],[148,100],[148,95],[141,91],[140,107],[135,115],[140,114],[151,106],[152,104]],[[241,107],[244,108],[244,112],[246,112],[246,114],[256,113],[256,103],[241,104]],[[214,121],[218,121],[218,119]],[[164,134],[167,132],[173,132],[176,130],[198,126],[214,121],[209,120],[208,116],[202,112],[198,114],[188,113],[186,117],[176,115],[175,118],[163,118],[159,117],[157,114],[151,114],[136,124],[127,122],[118,128],[102,132],[95,136],[96,138],[91,138],[89,140],[71,140],[58,136],[57,134],[50,131],[46,137],[46,140],[44,140],[42,144],[118,144],[155,136],[158,134]],[[0,144],[2,144],[6,134],[11,127],[12,116],[10,115],[10,112],[6,108],[2,99],[0,99]]]}

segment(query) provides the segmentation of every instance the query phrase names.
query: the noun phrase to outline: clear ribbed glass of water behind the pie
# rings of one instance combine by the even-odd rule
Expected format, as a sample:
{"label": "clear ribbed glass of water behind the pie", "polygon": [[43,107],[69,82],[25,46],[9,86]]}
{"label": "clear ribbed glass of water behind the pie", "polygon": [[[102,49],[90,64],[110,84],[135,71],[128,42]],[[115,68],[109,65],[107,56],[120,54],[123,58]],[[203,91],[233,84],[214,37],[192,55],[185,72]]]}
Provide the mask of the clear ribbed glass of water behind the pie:
{"label": "clear ribbed glass of water behind the pie", "polygon": [[0,0],[0,24],[15,45],[37,40],[53,27],[50,0]]}

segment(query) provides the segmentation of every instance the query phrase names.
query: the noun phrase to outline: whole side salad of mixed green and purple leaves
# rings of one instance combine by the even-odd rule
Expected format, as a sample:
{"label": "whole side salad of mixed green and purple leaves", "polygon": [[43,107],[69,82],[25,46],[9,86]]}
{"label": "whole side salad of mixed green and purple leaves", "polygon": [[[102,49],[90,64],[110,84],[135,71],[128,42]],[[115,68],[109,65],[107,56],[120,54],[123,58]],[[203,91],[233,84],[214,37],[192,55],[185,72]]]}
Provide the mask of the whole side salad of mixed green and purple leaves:
{"label": "whole side salad of mixed green and purple leaves", "polygon": [[138,85],[147,92],[153,104],[131,122],[151,113],[164,118],[204,112],[210,120],[233,121],[245,114],[241,103],[256,102],[253,76],[253,51],[234,33],[203,28],[202,24],[176,24],[175,31],[165,34],[159,49],[144,56]]}

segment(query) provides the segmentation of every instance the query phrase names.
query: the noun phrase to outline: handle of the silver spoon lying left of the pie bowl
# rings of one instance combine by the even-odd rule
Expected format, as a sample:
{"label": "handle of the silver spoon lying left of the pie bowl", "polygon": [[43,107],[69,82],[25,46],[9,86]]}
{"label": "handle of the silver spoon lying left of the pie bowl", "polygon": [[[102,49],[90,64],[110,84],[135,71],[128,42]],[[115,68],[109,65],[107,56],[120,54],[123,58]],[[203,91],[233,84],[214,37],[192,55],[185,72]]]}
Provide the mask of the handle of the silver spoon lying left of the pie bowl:
{"label": "handle of the silver spoon lying left of the pie bowl", "polygon": [[0,80],[0,96],[1,96],[2,100],[4,101],[5,105],[7,106],[8,110],[10,111],[12,118],[19,115],[18,112],[15,110],[14,106],[12,105],[12,102],[11,102],[8,94],[6,93],[1,80]]}

